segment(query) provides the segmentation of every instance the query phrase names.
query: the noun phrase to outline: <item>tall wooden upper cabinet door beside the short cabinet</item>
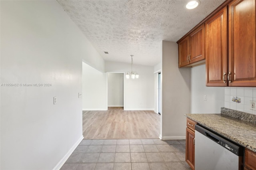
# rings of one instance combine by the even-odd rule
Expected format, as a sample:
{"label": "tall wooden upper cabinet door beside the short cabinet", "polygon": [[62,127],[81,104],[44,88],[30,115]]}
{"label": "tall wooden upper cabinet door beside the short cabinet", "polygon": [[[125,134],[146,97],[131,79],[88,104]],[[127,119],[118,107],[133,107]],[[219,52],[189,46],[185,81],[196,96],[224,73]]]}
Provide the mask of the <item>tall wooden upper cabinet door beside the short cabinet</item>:
{"label": "tall wooden upper cabinet door beside the short cabinet", "polygon": [[206,86],[227,86],[227,7],[205,23]]}

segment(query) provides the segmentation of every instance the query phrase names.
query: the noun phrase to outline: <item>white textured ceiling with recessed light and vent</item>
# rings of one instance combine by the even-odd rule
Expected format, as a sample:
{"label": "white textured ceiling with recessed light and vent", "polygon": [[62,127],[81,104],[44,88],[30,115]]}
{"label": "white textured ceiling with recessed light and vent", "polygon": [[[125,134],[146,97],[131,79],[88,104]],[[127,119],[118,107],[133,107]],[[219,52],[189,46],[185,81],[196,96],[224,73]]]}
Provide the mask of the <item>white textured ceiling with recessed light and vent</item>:
{"label": "white textured ceiling with recessed light and vent", "polygon": [[[176,42],[224,0],[58,0],[105,61],[156,65],[162,40]],[[105,54],[108,51],[109,54]]]}

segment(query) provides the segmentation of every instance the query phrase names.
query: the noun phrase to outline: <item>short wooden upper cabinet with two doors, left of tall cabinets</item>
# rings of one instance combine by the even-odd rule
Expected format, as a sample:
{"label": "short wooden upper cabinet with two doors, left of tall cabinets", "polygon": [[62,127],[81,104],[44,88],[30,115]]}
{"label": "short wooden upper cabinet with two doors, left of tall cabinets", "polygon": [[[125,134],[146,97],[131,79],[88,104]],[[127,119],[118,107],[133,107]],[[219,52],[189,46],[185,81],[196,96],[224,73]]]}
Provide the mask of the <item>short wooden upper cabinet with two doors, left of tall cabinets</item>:
{"label": "short wooden upper cabinet with two doors, left of tall cabinets", "polygon": [[178,42],[179,67],[190,67],[204,63],[204,61],[202,62],[202,60],[205,59],[204,42],[204,24],[194,30],[189,36]]}

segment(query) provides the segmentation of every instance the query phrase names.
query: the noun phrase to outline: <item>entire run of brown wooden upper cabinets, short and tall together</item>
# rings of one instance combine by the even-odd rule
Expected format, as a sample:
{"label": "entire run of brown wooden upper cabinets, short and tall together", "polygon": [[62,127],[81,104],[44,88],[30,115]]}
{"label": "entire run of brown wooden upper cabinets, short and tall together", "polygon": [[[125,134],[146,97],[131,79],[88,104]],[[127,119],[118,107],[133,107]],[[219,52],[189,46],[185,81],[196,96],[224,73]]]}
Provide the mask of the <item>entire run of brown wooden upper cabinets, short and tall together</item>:
{"label": "entire run of brown wooden upper cabinets, short and tall together", "polygon": [[206,86],[256,87],[256,0],[226,0],[177,43],[179,67],[206,58]]}

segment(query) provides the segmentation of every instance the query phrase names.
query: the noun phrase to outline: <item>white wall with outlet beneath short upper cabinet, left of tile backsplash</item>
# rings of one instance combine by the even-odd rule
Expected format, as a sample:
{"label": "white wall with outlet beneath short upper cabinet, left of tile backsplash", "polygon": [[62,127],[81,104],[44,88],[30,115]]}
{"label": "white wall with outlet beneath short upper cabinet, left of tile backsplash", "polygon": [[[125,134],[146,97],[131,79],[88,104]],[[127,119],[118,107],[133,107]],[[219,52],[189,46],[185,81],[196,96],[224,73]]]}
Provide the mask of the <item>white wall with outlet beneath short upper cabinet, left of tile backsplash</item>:
{"label": "white wall with outlet beneath short upper cabinet, left of tile backsplash", "polygon": [[191,113],[220,113],[224,107],[224,87],[206,87],[205,75],[205,64],[191,68]]}

